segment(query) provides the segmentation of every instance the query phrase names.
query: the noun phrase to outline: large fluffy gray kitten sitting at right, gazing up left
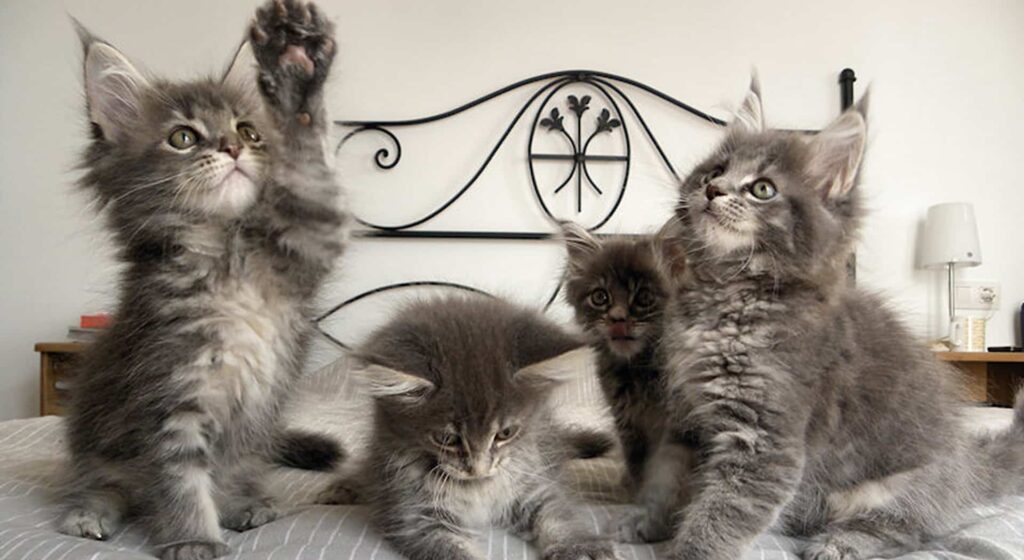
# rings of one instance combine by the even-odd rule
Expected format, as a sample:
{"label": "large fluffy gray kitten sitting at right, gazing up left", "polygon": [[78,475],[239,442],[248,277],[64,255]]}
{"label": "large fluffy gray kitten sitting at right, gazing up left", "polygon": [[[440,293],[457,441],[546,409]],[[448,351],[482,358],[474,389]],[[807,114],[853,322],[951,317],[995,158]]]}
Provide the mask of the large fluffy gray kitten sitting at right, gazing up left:
{"label": "large fluffy gray kitten sitting at right, gazing up left", "polygon": [[889,554],[1024,490],[1024,399],[1006,433],[968,435],[957,375],[849,286],[864,114],[766,130],[752,87],[681,187],[665,344],[669,430],[693,468],[672,558],[739,558],[773,525],[811,537],[805,558]]}

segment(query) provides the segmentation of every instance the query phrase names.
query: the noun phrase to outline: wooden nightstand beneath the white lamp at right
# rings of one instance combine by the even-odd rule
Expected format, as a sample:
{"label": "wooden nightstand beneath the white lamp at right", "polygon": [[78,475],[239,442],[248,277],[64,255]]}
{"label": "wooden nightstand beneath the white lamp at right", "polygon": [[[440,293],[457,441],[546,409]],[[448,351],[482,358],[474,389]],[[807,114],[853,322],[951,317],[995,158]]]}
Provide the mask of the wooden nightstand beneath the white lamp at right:
{"label": "wooden nightstand beneath the white lamp at right", "polygon": [[968,377],[971,398],[997,406],[1013,406],[1017,387],[1024,382],[1024,352],[936,352],[942,361]]}

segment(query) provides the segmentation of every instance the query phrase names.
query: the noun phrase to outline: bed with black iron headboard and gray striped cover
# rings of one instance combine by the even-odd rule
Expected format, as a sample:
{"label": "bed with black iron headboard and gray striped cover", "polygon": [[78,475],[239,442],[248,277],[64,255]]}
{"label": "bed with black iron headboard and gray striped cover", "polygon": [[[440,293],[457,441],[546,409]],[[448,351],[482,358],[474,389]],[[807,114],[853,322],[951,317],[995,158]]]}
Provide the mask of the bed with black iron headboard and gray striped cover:
{"label": "bed with black iron headboard and gray striped cover", "polygon": [[[852,103],[854,80],[849,69],[840,74],[843,107]],[[554,249],[555,258],[560,259],[557,247],[550,243],[553,230],[550,220],[568,217],[586,223],[592,230],[614,226],[620,210],[631,203],[626,197],[627,188],[638,182],[631,177],[637,175],[637,162],[642,160],[637,153],[641,147],[646,148],[648,164],[656,165],[670,181],[678,179],[677,166],[667,156],[667,149],[655,134],[658,127],[650,114],[644,111],[645,105],[636,99],[637,95],[645,96],[648,102],[659,103],[663,113],[664,110],[682,112],[689,125],[712,129],[720,129],[724,125],[722,119],[646,84],[608,73],[578,70],[520,80],[451,111],[425,118],[339,121],[340,156],[352,146],[371,145],[370,165],[384,177],[397,177],[390,175],[403,157],[402,142],[396,131],[462,118],[498,98],[511,96],[520,101],[507,126],[498,127],[499,134],[494,143],[483,145],[482,162],[474,164],[473,169],[464,173],[464,180],[457,181],[454,186],[447,185],[441,196],[434,198],[436,204],[428,210],[410,219],[375,221],[362,217],[357,207],[356,215],[362,227],[356,232],[355,249],[359,249],[361,244],[373,252],[386,253],[388,247],[402,243],[417,244],[421,251],[426,251],[426,246],[422,244],[490,244],[485,252],[494,254],[495,247],[508,248],[508,253],[513,253],[508,244],[539,248],[540,243],[549,251]],[[493,222],[485,219],[486,209],[483,208],[477,225],[451,227],[453,222],[445,221],[446,213],[459,210],[460,205],[471,197],[470,190],[493,165],[496,154],[510,143],[507,140],[514,137],[514,133],[518,133],[526,145],[525,157],[519,154],[516,159],[520,165],[526,163],[525,172],[520,168],[522,173],[518,177],[526,177],[530,186],[527,192],[531,192],[528,199],[535,203],[534,208],[540,210],[532,216],[534,221],[527,220],[525,225],[519,226],[487,227],[483,224],[493,225]],[[366,143],[367,138],[385,143],[373,146]],[[359,141],[364,143],[359,144]],[[634,170],[632,174],[631,170]],[[344,176],[351,181],[349,174]],[[395,181],[400,184],[401,179]],[[642,190],[638,189],[639,186],[630,188],[633,199],[643,198]],[[493,201],[488,204],[493,205]],[[658,204],[664,212],[664,203]],[[385,203],[383,208],[386,207]],[[647,216],[648,223],[627,223],[625,226],[620,223],[618,232],[624,232],[624,229],[625,232],[631,229],[639,232],[644,225],[648,228],[656,226],[656,215],[648,216],[643,209],[633,210],[634,215]],[[566,211],[568,216],[564,215]],[[382,247],[382,243],[386,246]],[[346,258],[356,261],[356,264],[346,264],[358,268],[359,251],[354,253]],[[362,254],[365,256],[367,251]],[[547,265],[558,268],[554,262]],[[410,268],[415,267],[403,269]],[[537,285],[540,295],[534,303],[546,312],[557,313],[560,283],[551,270],[546,274]],[[501,276],[490,272],[490,276],[496,275]],[[334,298],[324,306],[323,314],[316,317],[316,326],[324,335],[324,344],[317,356],[319,362],[326,365],[305,378],[288,415],[288,423],[335,434],[352,454],[351,460],[345,464],[350,466],[357,463],[364,448],[361,442],[368,437],[366,411],[370,406],[368,397],[348,376],[350,363],[345,357],[345,350],[357,339],[350,316],[352,309],[367,302],[385,300],[398,292],[488,290],[486,286],[452,276],[377,278],[369,284],[346,278],[342,285],[350,292]],[[373,313],[359,310],[356,314],[362,319]],[[386,316],[386,312],[377,314]],[[365,332],[373,321],[358,322]],[[611,433],[610,418],[591,364],[581,363],[578,380],[563,387],[557,398],[559,422]],[[1009,424],[1010,417],[1010,412],[1006,410],[973,408],[968,421],[973,429],[999,429]],[[155,551],[137,524],[129,523],[106,542],[75,539],[56,532],[54,523],[59,504],[55,492],[66,458],[63,447],[63,429],[58,417],[0,423],[0,560],[152,558]],[[585,505],[598,531],[604,530],[606,522],[617,510],[631,507],[624,503],[624,496],[616,486],[622,473],[621,464],[612,453],[605,458],[571,462],[565,468],[567,485]],[[342,471],[347,468],[345,465],[341,467]],[[327,473],[279,468],[272,473],[271,491],[283,508],[283,515],[245,533],[225,531],[225,539],[232,549],[228,558],[400,558],[368,524],[365,507],[314,504],[330,478]],[[977,516],[970,524],[905,558],[1024,558],[1024,497],[1010,498],[975,513]],[[480,533],[478,542],[488,559],[538,557],[536,551],[522,540],[501,530]],[[757,542],[748,558],[798,558],[801,547],[802,544],[797,541],[768,533]],[[626,559],[660,557],[656,546],[624,545],[622,555]]]}

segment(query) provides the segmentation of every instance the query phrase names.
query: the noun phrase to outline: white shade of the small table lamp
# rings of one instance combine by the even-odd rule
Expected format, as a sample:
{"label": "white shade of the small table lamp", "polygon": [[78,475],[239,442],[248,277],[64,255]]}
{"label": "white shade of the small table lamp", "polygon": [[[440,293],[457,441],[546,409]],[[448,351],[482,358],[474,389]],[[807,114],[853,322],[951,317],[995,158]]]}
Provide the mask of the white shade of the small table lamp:
{"label": "white shade of the small table lamp", "polygon": [[928,209],[922,240],[921,264],[926,267],[978,266],[981,246],[974,206],[968,203],[937,204]]}

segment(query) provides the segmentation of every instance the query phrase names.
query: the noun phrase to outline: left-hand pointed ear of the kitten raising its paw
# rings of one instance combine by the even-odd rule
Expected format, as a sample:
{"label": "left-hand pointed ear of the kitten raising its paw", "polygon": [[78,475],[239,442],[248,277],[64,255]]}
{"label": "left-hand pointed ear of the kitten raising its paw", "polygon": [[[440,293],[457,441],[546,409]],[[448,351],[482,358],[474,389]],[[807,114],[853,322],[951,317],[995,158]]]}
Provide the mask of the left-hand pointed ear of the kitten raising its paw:
{"label": "left-hand pointed ear of the kitten raising its paw", "polygon": [[89,120],[117,140],[141,118],[141,100],[151,87],[124,54],[75,21],[85,50],[85,96]]}

